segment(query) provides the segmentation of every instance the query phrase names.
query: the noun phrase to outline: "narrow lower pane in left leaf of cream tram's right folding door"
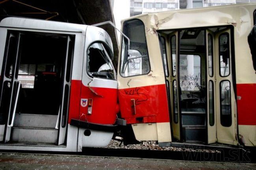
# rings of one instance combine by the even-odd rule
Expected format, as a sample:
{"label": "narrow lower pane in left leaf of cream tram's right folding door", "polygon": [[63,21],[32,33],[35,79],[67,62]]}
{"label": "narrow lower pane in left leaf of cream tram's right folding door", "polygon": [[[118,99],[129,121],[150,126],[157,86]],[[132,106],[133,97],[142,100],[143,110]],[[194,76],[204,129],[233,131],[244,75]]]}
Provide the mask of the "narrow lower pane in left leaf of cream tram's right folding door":
{"label": "narrow lower pane in left leaf of cream tram's right folding door", "polygon": [[209,124],[214,125],[214,89],[213,81],[209,81]]}

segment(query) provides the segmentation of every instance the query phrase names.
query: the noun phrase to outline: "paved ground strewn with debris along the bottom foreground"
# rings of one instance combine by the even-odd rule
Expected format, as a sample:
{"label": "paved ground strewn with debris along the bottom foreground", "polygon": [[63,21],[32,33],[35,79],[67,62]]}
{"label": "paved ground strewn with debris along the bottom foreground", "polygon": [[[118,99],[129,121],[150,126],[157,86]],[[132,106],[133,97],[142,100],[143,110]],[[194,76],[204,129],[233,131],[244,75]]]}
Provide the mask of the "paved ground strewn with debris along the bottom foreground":
{"label": "paved ground strewn with debris along the bottom foreground", "polygon": [[1,170],[256,170],[252,163],[0,153]]}

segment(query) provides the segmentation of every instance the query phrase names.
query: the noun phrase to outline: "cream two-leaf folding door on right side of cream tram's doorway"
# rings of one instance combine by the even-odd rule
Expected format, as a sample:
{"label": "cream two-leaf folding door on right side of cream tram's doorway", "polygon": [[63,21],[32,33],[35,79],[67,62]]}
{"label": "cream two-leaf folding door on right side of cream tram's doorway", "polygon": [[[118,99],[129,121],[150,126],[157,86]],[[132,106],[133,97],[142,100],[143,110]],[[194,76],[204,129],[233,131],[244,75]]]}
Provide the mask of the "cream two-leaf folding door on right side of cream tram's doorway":
{"label": "cream two-leaf folding door on right side of cream tram's doorway", "polygon": [[[217,28],[217,30],[220,28]],[[212,29],[214,30],[214,29]],[[208,80],[208,143],[237,144],[236,100],[229,28],[206,30]]]}

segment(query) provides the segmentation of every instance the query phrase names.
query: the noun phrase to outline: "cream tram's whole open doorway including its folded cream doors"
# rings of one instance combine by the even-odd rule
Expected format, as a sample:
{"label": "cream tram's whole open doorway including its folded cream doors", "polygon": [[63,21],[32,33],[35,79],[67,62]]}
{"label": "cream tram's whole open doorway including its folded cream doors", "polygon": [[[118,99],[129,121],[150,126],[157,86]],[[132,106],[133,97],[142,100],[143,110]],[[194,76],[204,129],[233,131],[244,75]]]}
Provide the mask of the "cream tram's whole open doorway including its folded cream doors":
{"label": "cream tram's whole open doorway including its folded cream doors", "polygon": [[237,144],[232,27],[159,33],[174,141]]}

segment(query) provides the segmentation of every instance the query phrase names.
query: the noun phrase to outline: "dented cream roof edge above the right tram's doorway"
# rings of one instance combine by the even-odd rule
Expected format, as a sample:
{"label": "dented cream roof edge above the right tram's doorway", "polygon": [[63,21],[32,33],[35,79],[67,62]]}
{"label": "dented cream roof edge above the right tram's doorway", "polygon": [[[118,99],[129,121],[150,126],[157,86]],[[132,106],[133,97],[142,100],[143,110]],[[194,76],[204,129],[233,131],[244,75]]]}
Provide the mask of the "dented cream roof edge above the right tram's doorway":
{"label": "dented cream roof edge above the right tram's doorway", "polygon": [[[165,30],[193,27],[224,26],[253,22],[252,15],[247,15],[256,9],[256,4],[232,4],[193,9],[180,9],[145,13],[122,20],[140,19],[145,24],[145,29]],[[146,28],[147,27],[147,28]]]}

